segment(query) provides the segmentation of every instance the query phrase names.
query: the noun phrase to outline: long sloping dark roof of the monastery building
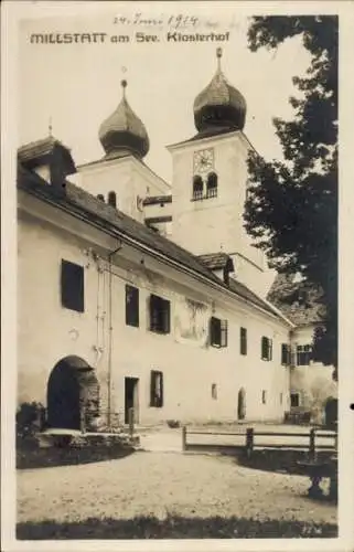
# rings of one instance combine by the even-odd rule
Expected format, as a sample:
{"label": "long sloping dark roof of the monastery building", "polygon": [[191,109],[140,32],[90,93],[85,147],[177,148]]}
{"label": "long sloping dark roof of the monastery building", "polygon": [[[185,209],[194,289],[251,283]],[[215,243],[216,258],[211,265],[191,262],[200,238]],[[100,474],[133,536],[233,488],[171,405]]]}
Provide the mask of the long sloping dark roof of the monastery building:
{"label": "long sloping dark roof of the monastery building", "polygon": [[99,225],[105,232],[115,233],[122,237],[127,236],[128,238],[132,238],[150,247],[154,252],[180,264],[182,267],[194,272],[195,275],[203,276],[210,283],[217,284],[218,287],[223,287],[225,290],[232,290],[236,296],[250,301],[262,310],[283,320],[283,317],[280,316],[277,309],[272,308],[271,305],[264,301],[243,284],[233,280],[228,287],[195,255],[180,247],[171,240],[155,233],[153,230],[150,230],[144,224],[131,219],[121,211],[99,201],[96,197],[82,188],[67,182],[65,193],[57,193],[53,190],[53,187],[47,183],[43,185],[43,179],[37,174],[28,171],[21,166],[19,167],[18,187],[42,201],[46,201],[57,208],[69,210],[74,216],[83,217],[84,215],[88,223],[92,222]]}

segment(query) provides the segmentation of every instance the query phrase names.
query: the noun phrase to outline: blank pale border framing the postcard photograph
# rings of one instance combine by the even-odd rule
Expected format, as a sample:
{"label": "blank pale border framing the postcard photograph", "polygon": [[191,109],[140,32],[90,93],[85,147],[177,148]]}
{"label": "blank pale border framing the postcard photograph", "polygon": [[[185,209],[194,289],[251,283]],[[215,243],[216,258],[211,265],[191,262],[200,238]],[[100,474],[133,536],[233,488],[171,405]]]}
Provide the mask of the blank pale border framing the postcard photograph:
{"label": "blank pale border framing the postcard photograph", "polygon": [[36,19],[53,15],[111,14],[112,9],[128,7],[132,2],[2,2],[1,20],[1,284],[2,284],[2,388],[1,388],[1,438],[2,438],[2,550],[269,550],[269,551],[331,551],[354,550],[353,459],[354,412],[348,405],[354,402],[354,362],[352,341],[354,337],[354,76],[353,29],[354,4],[352,2],[133,2],[133,10],[160,13],[163,8],[176,6],[178,12],[235,9],[242,15],[255,14],[339,14],[340,15],[340,537],[339,539],[267,539],[267,540],[163,540],[163,541],[15,541],[15,473],[14,473],[14,405],[17,390],[15,312],[17,312],[17,234],[15,234],[15,147],[17,147],[17,61],[18,25],[20,19]]}

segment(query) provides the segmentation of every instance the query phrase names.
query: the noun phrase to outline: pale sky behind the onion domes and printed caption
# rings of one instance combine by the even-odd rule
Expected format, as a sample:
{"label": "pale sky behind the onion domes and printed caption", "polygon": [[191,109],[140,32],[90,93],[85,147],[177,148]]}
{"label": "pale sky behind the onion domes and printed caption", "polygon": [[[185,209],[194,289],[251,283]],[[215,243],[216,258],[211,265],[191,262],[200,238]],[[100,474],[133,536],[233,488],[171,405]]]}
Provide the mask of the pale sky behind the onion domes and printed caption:
{"label": "pale sky behind the onion domes and printed caption", "polygon": [[[97,2],[99,3],[99,2]],[[120,4],[119,4],[120,6]],[[178,12],[175,6],[163,10],[144,4],[143,10],[116,4],[83,11],[75,17],[23,20],[19,56],[19,146],[49,135],[71,148],[77,166],[99,159],[104,150],[98,128],[121,98],[120,81],[128,81],[127,98],[144,123],[150,151],[144,161],[171,181],[171,157],[165,146],[196,134],[193,119],[195,96],[216,71],[216,47],[223,47],[222,68],[230,84],[246,98],[245,134],[266,158],[279,158],[281,148],[272,126],[273,117],[291,119],[289,97],[296,93],[294,75],[303,75],[309,54],[300,39],[288,40],[276,52],[247,47],[249,19],[235,13],[232,6],[207,14],[201,4]],[[167,4],[164,4],[167,6]],[[193,4],[192,4],[193,6]],[[141,15],[137,17],[137,13]],[[187,20],[184,34],[229,33],[224,42],[173,42],[178,15]],[[174,23],[169,18],[174,18]],[[118,23],[115,23],[117,18]],[[129,18],[130,23],[121,23]],[[133,24],[133,20],[157,18],[160,23]],[[32,33],[93,33],[107,36],[103,43],[34,44]],[[155,34],[159,42],[138,43],[136,32]],[[129,43],[112,43],[111,35],[128,35]]]}

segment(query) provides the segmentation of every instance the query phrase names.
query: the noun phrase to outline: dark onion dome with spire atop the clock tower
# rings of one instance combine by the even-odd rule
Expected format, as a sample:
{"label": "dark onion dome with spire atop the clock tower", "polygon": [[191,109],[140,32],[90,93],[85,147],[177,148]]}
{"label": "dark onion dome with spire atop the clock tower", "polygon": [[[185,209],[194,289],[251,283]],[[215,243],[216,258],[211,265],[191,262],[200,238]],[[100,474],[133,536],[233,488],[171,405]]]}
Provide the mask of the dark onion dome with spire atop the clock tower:
{"label": "dark onion dome with spire atop the clock tower", "polygon": [[245,126],[246,100],[222,72],[222,53],[218,47],[216,73],[194,100],[194,123],[200,132],[242,130]]}

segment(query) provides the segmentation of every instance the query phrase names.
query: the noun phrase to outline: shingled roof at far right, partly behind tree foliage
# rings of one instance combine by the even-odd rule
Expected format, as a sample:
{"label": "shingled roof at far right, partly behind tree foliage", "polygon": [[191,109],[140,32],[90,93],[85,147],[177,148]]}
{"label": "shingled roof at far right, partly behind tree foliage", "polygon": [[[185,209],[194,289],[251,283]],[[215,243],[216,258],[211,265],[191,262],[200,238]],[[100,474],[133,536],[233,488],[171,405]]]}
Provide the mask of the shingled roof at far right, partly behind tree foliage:
{"label": "shingled roof at far right, partly behind tree foliage", "polygon": [[297,282],[294,275],[278,274],[267,300],[296,326],[308,326],[325,321],[322,295],[321,289],[308,280]]}

